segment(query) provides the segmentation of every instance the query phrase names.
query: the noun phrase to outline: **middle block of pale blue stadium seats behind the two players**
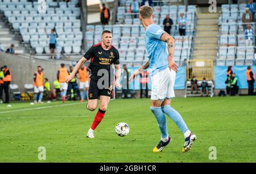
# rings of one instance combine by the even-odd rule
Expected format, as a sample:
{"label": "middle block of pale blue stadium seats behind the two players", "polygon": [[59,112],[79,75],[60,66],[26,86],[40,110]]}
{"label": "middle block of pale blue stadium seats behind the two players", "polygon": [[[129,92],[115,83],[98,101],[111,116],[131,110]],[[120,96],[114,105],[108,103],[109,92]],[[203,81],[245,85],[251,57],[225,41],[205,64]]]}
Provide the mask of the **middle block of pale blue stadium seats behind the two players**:
{"label": "middle block of pale blue stadium seats behind the two players", "polygon": [[[141,1],[139,1],[141,2]],[[138,14],[129,12],[129,1],[119,1],[117,10],[117,23],[114,25],[88,25],[86,27],[86,49],[101,40],[101,32],[108,29],[113,32],[113,45],[119,49],[120,61],[133,66],[134,63],[143,62],[147,59],[144,45],[144,28],[138,19]],[[154,23],[159,24],[163,28],[163,20],[169,14],[173,20],[171,35],[176,39],[175,45],[175,61],[181,65],[184,59],[189,60],[192,52],[192,41],[196,24],[196,6],[189,5],[186,11],[185,6],[153,6]],[[179,36],[179,28],[177,19],[179,14],[184,12],[187,18],[186,36]],[[134,17],[137,15],[137,18]]]}

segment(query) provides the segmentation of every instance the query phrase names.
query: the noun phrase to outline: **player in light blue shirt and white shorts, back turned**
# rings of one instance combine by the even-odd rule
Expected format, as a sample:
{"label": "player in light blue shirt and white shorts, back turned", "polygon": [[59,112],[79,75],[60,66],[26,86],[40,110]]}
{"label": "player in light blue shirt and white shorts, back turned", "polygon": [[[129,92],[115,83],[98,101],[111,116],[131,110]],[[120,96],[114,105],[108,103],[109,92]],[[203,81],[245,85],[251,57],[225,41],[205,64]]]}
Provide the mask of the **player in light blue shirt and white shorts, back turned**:
{"label": "player in light blue shirt and white shorts, back turned", "polygon": [[180,114],[170,106],[171,99],[175,97],[174,83],[177,72],[177,65],[173,60],[175,40],[160,26],[153,24],[153,18],[152,7],[142,6],[139,10],[139,19],[146,30],[145,43],[149,60],[131,75],[130,80],[150,67],[152,75],[150,109],[154,113],[161,131],[161,141],[153,149],[153,152],[162,151],[172,139],[168,135],[164,114],[167,114],[184,133],[185,143],[182,151],[187,152],[192,147],[193,141],[196,140],[196,135],[191,133]]}

